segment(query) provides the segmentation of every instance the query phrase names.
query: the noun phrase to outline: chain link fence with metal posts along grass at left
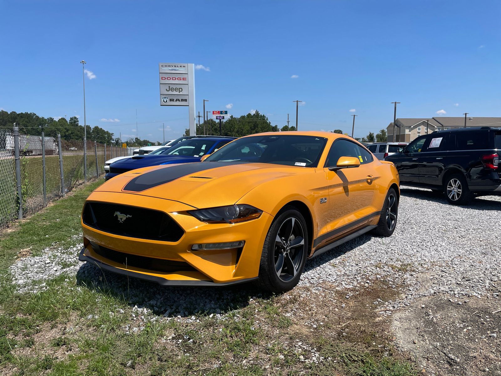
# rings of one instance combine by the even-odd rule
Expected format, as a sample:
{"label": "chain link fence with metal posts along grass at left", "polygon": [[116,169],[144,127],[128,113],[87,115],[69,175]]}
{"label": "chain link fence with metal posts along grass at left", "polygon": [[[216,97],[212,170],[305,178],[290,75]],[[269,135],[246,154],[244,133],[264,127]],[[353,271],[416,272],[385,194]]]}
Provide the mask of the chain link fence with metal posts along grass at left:
{"label": "chain link fence with metal posts along grass at left", "polygon": [[[0,230],[85,180],[83,140],[18,133],[17,128],[0,129]],[[102,175],[106,160],[133,155],[134,149],[87,140],[87,179]]]}

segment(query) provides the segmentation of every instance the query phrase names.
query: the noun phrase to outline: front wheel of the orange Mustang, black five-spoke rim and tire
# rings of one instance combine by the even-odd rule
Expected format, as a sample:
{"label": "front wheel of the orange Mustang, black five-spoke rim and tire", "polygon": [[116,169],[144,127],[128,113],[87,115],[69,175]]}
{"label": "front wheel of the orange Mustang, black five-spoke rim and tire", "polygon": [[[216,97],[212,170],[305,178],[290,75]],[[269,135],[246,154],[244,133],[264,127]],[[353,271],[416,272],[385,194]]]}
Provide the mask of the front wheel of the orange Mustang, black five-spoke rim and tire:
{"label": "front wheel of the orange Mustang, black five-spoke rim and tire", "polygon": [[308,242],[303,215],[295,207],[285,207],[268,230],[261,254],[258,286],[277,293],[296,286],[305,267]]}

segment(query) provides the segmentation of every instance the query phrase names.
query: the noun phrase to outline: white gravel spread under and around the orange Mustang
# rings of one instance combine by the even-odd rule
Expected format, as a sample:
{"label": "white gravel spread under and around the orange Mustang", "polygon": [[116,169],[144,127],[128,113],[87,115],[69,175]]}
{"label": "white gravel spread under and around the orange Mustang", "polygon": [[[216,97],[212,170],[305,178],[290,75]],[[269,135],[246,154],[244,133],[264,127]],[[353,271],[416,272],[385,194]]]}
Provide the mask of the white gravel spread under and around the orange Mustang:
{"label": "white gravel spread under and around the orange Mustang", "polygon": [[[329,282],[341,290],[368,286],[376,280],[404,285],[399,301],[375,302],[382,314],[391,314],[421,295],[443,292],[451,299],[484,296],[492,293],[489,288],[501,279],[500,213],[501,197],[476,198],[470,205],[459,207],[447,204],[431,191],[402,187],[393,236],[364,235],[307,261],[300,286],[319,289]],[[257,294],[252,285],[166,288],[134,278],[127,280],[93,265],[82,265],[77,260],[81,246],[51,248],[41,256],[19,260],[11,267],[14,282],[22,292],[35,292],[44,288],[44,280],[63,273],[76,274],[77,280],[107,283],[117,295],[129,295],[133,304],[147,308],[145,313],[153,310],[166,317],[191,317],[197,312],[223,314],[248,304],[248,297]],[[103,273],[106,278],[99,278]],[[418,294],[423,278],[432,283]],[[492,297],[497,296],[492,293]]]}

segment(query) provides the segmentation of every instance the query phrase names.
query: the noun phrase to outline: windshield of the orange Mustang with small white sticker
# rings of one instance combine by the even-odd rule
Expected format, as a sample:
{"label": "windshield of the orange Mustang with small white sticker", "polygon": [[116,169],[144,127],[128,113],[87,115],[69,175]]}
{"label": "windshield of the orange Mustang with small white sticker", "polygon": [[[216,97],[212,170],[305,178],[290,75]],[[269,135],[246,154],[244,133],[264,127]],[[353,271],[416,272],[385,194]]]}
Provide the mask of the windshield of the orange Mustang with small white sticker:
{"label": "windshield of the orange Mustang with small white sticker", "polygon": [[239,138],[210,155],[207,161],[276,163],[316,167],[327,138],[303,135],[266,135]]}

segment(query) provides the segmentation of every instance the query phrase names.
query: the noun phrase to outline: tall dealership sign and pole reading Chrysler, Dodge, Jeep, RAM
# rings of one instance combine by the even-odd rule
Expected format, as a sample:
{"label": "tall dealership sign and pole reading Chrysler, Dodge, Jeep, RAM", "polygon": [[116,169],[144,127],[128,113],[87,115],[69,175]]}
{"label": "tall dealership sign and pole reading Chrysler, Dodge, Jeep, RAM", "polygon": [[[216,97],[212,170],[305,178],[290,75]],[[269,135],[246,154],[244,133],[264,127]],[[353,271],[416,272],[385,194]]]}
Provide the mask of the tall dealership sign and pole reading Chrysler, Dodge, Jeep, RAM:
{"label": "tall dealership sign and pole reading Chrysler, Dodge, Jeep, RAM", "polygon": [[195,71],[193,64],[160,63],[160,106],[187,106],[189,135],[195,129]]}

